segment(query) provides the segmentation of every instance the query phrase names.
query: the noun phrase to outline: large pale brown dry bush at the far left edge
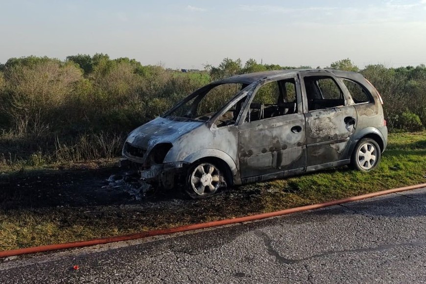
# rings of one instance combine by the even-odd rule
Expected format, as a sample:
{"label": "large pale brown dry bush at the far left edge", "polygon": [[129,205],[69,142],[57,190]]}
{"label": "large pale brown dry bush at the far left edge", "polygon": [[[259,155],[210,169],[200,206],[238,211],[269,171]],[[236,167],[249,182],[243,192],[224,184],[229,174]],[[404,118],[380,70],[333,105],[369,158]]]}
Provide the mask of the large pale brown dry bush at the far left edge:
{"label": "large pale brown dry bush at the far left edge", "polygon": [[6,67],[5,77],[0,111],[9,118],[10,130],[17,136],[43,136],[59,124],[59,109],[75,92],[82,73],[74,65],[43,60]]}

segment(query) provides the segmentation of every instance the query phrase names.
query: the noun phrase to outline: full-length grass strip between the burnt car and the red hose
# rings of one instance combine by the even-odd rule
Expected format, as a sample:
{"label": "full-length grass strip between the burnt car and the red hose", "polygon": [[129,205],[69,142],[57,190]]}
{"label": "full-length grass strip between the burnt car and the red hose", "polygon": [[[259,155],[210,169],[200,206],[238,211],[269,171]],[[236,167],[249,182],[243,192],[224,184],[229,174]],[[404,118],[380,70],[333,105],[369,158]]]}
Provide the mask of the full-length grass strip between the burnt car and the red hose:
{"label": "full-length grass strip between the burnt car and the red hose", "polygon": [[[68,179],[63,173],[58,173],[58,176]],[[391,134],[379,167],[368,173],[339,167],[241,186],[213,198],[197,201],[176,198],[173,193],[175,195],[162,195],[133,205],[107,203],[86,206],[73,205],[70,201],[70,204],[65,205],[0,210],[0,250],[109,237],[272,212],[425,183],[425,177],[426,132]],[[0,186],[1,179],[3,177],[0,176]],[[15,199],[24,198],[23,195],[25,198],[33,198],[26,196],[24,192],[19,193],[19,189],[14,194]],[[57,195],[57,192],[54,194]]]}

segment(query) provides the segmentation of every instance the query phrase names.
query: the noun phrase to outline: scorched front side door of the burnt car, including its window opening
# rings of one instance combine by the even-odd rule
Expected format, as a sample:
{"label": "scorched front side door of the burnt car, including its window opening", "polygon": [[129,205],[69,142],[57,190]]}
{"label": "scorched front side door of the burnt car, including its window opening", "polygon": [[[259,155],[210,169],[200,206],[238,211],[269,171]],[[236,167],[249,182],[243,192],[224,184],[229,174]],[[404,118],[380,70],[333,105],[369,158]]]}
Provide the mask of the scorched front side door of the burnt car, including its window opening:
{"label": "scorched front side door of the burnt car, including its window opening", "polygon": [[263,81],[248,100],[237,129],[243,182],[303,171],[305,117],[297,76]]}

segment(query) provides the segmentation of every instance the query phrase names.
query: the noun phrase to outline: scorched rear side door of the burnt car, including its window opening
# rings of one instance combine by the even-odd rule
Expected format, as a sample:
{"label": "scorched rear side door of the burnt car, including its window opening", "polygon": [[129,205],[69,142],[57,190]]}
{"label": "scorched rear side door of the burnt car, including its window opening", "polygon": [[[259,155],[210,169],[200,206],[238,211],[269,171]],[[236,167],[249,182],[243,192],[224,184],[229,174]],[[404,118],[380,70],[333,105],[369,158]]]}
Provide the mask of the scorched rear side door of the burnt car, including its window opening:
{"label": "scorched rear side door of the burnt car, including its window opening", "polygon": [[356,111],[340,80],[330,73],[301,74],[308,170],[348,162]]}

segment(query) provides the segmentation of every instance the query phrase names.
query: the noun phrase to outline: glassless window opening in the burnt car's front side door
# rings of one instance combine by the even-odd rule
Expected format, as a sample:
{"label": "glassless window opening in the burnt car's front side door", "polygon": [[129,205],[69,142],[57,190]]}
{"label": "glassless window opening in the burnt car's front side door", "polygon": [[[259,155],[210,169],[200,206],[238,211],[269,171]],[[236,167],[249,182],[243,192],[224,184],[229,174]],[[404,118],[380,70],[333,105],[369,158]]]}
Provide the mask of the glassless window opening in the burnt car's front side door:
{"label": "glassless window opening in the burnt car's front side door", "polygon": [[272,81],[260,86],[250,104],[245,122],[297,113],[294,78]]}

